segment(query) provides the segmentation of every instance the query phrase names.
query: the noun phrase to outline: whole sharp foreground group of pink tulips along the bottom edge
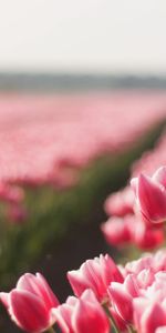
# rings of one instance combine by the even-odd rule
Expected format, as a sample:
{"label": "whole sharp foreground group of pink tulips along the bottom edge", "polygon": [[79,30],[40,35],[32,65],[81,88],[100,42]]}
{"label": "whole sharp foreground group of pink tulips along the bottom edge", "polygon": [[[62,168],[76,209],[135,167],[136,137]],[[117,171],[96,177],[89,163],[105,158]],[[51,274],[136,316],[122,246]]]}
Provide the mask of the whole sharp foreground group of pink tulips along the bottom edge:
{"label": "whole sharp foreground group of pink tulips along the bottom edge", "polygon": [[166,251],[117,266],[106,254],[68,273],[75,296],[60,304],[44,278],[24,274],[0,300],[25,332],[166,332]]}

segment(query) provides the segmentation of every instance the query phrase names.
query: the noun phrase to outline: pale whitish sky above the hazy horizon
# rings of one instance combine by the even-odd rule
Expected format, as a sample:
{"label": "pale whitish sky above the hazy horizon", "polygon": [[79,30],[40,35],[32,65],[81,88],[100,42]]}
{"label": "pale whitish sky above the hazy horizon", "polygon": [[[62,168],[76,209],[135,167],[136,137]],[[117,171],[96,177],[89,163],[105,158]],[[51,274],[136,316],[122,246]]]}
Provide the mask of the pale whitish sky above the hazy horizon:
{"label": "pale whitish sky above the hazy horizon", "polygon": [[0,71],[166,73],[166,0],[0,0]]}

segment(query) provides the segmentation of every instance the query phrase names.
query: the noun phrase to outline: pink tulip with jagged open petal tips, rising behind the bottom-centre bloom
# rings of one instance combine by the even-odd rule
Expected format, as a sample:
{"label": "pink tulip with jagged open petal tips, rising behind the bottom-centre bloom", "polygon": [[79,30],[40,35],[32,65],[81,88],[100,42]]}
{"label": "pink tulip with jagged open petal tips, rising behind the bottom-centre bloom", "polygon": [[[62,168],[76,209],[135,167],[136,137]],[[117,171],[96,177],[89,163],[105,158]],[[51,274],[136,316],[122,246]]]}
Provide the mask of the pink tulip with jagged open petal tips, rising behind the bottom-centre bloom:
{"label": "pink tulip with jagged open petal tips, rising behind the bottom-centre bloom", "polygon": [[85,261],[80,270],[68,272],[68,279],[76,296],[91,289],[101,302],[107,300],[107,286],[112,281],[123,282],[118,268],[108,254]]}

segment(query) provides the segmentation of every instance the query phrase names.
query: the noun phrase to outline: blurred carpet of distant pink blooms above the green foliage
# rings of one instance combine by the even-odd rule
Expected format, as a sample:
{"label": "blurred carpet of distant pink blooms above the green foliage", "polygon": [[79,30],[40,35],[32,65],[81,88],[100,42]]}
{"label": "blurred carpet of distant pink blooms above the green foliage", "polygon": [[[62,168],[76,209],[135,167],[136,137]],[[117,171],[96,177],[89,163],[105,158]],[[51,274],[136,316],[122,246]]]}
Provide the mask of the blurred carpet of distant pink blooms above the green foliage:
{"label": "blurred carpet of distant pink blooms above the green foliage", "polygon": [[[77,169],[105,152],[123,151],[165,119],[165,104],[158,92],[1,95],[0,183],[71,186]],[[11,208],[9,216],[17,215],[23,218],[22,205]]]}

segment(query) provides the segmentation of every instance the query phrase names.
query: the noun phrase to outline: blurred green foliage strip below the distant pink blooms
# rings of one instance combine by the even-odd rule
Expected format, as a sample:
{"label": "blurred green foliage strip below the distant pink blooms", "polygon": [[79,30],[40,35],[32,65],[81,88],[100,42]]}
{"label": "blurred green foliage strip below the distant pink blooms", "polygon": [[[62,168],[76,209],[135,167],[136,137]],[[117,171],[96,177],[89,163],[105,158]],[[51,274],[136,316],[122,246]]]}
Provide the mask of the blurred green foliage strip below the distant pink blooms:
{"label": "blurred green foliage strip below the distant pink blooms", "polygon": [[[68,234],[72,236],[73,225],[76,226],[77,232],[79,229],[83,229],[83,225],[84,230],[89,228],[92,236],[93,231],[91,230],[93,228],[94,234],[97,235],[100,216],[92,206],[102,210],[103,201],[108,191],[113,191],[124,183],[128,176],[131,162],[141,154],[145,147],[151,147],[154,143],[157,134],[158,130],[156,132],[152,131],[142,142],[137,142],[137,145],[132,150],[98,159],[89,168],[82,170],[76,186],[70,188],[68,191],[54,191],[49,186],[27,190],[25,208],[28,210],[19,212],[12,205],[12,219],[14,213],[14,216],[19,216],[21,222],[22,214],[27,213],[28,223],[11,223],[10,220],[7,223],[7,219],[0,211],[0,286],[8,287],[13,284],[21,273],[35,264],[38,265],[39,261],[42,261],[45,266],[45,262],[48,262],[46,253],[49,251],[52,256],[55,246],[59,252],[62,249],[63,253],[64,246],[61,245],[60,241],[68,243],[65,239]],[[6,209],[4,205],[3,209]],[[89,242],[89,239],[86,242]],[[75,242],[77,242],[76,240],[77,236],[75,235]],[[97,240],[100,243],[96,246],[102,246],[102,251],[105,251],[102,236],[97,236]],[[92,242],[87,243],[86,251],[87,249],[90,249],[91,255],[95,255],[97,252]],[[72,262],[71,256],[68,258],[69,260]],[[68,269],[68,264],[65,265]],[[42,272],[46,274],[46,271]]]}

